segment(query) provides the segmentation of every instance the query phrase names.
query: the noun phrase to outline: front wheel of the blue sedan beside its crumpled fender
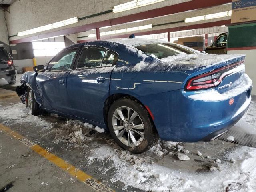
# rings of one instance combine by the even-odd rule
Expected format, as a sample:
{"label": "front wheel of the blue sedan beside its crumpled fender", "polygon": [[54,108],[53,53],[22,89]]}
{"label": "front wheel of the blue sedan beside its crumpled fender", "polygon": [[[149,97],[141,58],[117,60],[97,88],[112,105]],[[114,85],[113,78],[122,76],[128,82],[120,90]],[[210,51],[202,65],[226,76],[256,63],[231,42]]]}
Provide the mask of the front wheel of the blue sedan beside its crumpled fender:
{"label": "front wheel of the blue sedan beside its crumpled fender", "polygon": [[40,110],[39,104],[35,100],[34,92],[29,87],[26,95],[26,108],[28,109],[28,113],[30,115],[38,116],[42,113],[42,110]]}

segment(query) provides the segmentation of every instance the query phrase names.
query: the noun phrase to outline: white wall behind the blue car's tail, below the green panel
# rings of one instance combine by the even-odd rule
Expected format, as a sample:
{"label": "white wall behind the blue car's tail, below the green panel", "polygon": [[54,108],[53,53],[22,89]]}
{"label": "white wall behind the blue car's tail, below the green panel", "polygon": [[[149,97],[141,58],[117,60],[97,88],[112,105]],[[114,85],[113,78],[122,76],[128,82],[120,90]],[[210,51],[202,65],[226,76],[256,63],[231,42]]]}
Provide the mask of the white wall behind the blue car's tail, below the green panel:
{"label": "white wall behind the blue car's tail, below the green panel", "polygon": [[256,50],[235,50],[228,51],[228,54],[245,54],[246,58],[244,60],[245,64],[245,72],[252,79],[252,84],[254,88],[252,88],[252,95],[256,95],[256,75],[255,75],[255,59],[256,59]]}

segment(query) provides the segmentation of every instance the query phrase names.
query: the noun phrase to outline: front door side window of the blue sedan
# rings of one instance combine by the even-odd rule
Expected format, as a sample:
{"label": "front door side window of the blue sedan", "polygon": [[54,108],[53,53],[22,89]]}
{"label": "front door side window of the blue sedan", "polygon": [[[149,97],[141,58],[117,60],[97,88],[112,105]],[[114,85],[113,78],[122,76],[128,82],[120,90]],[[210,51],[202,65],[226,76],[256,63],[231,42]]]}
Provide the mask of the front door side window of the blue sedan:
{"label": "front door side window of the blue sedan", "polygon": [[78,48],[66,49],[57,54],[48,65],[49,71],[69,70]]}

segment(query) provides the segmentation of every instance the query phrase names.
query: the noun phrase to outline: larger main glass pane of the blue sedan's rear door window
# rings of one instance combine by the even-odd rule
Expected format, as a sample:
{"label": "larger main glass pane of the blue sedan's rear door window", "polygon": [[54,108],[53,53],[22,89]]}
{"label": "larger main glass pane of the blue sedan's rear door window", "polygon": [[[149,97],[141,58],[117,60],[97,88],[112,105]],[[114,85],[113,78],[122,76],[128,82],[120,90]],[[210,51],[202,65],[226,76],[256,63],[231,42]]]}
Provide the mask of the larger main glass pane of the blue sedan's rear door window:
{"label": "larger main glass pane of the blue sedan's rear door window", "polygon": [[106,51],[96,47],[85,47],[78,60],[77,68],[91,68],[102,66]]}

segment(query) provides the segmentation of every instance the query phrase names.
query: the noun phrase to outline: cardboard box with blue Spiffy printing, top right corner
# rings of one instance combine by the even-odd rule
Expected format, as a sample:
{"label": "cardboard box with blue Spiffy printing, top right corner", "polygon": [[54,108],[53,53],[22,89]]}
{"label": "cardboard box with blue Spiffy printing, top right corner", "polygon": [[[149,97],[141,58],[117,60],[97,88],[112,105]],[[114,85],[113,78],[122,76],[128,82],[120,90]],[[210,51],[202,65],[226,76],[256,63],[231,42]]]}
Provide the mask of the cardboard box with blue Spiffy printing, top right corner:
{"label": "cardboard box with blue Spiffy printing, top right corner", "polygon": [[256,20],[256,0],[232,0],[231,23]]}

